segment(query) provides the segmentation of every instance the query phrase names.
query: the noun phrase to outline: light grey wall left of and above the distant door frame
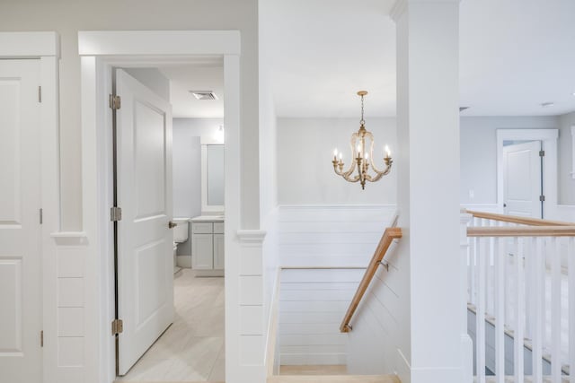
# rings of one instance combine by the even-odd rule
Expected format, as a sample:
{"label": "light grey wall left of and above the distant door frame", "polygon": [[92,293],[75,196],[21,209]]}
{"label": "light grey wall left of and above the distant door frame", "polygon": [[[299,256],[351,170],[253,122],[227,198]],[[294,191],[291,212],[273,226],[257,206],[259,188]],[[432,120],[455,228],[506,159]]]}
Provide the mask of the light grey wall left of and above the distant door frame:
{"label": "light grey wall left of and above the distant door frame", "polygon": [[[497,203],[497,129],[557,128],[555,117],[464,117],[461,132],[462,204]],[[469,197],[473,190],[474,197]]]}

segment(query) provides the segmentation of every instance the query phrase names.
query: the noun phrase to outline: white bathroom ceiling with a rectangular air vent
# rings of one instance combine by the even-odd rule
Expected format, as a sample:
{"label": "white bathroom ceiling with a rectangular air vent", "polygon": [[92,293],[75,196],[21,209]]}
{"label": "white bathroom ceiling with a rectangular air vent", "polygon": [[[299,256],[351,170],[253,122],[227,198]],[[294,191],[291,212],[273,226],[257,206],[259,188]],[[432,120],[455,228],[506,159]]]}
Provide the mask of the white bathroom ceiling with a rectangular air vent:
{"label": "white bathroom ceiling with a rectangular air vent", "polygon": [[[221,60],[192,65],[162,65],[170,80],[173,118],[224,117],[224,67]],[[218,100],[196,100],[190,91],[213,91]]]}

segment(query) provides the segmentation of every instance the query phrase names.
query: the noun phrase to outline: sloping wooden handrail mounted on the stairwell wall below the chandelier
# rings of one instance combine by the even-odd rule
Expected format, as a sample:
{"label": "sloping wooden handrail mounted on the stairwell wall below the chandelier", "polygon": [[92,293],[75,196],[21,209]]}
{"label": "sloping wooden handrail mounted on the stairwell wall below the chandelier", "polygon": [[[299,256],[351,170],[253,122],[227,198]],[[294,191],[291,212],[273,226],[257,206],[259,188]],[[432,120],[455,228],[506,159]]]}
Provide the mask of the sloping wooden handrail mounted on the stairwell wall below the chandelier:
{"label": "sloping wooden handrail mounted on the stairwell wall below the chandelier", "polygon": [[374,253],[374,256],[371,257],[371,261],[367,266],[366,273],[363,275],[363,278],[361,278],[358,290],[349,303],[348,311],[345,313],[343,321],[341,321],[340,331],[342,333],[349,333],[349,330],[351,330],[349,322],[351,321],[353,314],[356,312],[356,309],[358,309],[359,302],[363,298],[363,295],[366,293],[369,283],[371,283],[371,280],[376,274],[377,266],[382,261],[382,259],[384,259],[385,253],[387,252],[389,246],[392,244],[392,241],[397,238],[402,238],[402,229],[395,227],[385,229],[384,235],[382,235],[381,239],[379,240],[379,244],[377,245],[376,252]]}

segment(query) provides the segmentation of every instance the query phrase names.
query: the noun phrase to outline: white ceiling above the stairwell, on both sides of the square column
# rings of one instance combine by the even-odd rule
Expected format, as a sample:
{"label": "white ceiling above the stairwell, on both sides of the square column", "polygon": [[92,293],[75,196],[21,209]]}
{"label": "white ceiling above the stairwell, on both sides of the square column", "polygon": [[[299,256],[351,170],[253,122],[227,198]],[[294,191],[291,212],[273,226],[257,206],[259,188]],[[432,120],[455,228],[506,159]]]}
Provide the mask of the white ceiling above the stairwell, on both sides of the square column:
{"label": "white ceiling above the stairwell, on both sides of the square column", "polygon": [[[279,117],[395,114],[391,0],[270,0],[260,48],[270,54]],[[467,116],[575,110],[575,2],[464,0],[460,94]],[[543,108],[541,103],[554,102]]]}

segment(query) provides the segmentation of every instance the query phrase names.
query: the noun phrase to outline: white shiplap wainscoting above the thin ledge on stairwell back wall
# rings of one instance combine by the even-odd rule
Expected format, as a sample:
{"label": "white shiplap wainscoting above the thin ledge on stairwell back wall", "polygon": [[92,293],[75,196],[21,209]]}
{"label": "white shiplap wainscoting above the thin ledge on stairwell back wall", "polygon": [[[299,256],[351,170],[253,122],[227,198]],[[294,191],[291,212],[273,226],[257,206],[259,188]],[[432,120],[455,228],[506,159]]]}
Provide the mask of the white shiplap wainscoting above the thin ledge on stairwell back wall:
{"label": "white shiplap wainscoting above the thin ledge on stairwell back wall", "polygon": [[394,220],[395,205],[279,206],[283,267],[365,267]]}

